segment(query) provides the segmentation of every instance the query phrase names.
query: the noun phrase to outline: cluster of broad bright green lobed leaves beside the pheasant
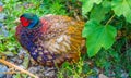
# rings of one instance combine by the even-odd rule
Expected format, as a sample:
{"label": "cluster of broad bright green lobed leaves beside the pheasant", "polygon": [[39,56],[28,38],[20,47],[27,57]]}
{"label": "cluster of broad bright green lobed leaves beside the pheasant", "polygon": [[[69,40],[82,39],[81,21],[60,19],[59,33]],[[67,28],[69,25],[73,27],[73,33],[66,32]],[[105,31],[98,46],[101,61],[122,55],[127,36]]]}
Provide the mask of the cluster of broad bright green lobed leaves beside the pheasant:
{"label": "cluster of broad bright green lobed leaves beside the pheasant", "polygon": [[[126,0],[123,0],[123,1],[122,0],[121,1],[115,1],[115,0],[112,0],[112,1],[88,0],[88,1],[86,1],[86,0],[83,0],[83,2],[84,2],[83,6],[82,6],[83,15],[85,15],[87,12],[91,12],[88,14],[90,21],[87,21],[87,23],[84,27],[84,30],[83,30],[83,37],[85,37],[87,40],[97,39],[98,37],[103,39],[104,34],[107,34],[106,35],[107,39],[105,39],[107,41],[105,42],[105,44],[110,44],[110,46],[108,48],[105,48],[103,46],[100,47],[100,44],[103,44],[104,40],[102,42],[98,41],[99,44],[97,44],[97,46],[99,46],[100,48],[105,48],[106,50],[109,49],[112,46],[112,42],[115,42],[115,37],[117,34],[116,32],[117,27],[115,27],[116,25],[110,22],[112,22],[112,18],[115,17],[115,15],[117,15],[119,17],[120,17],[120,15],[123,15],[127,20],[127,23],[130,22],[131,17],[130,17],[129,13],[130,13],[130,2],[131,1],[129,0],[129,2],[128,2]],[[93,3],[93,4],[91,4],[92,8],[88,8],[88,4],[85,5],[86,2],[87,3],[92,2]],[[96,3],[95,5],[94,5],[94,2]],[[85,12],[85,10],[87,12]],[[98,11],[98,10],[100,10],[100,11]],[[126,10],[126,11],[123,11],[123,10]],[[100,15],[98,16],[98,14],[100,14]],[[106,15],[106,14],[108,14],[108,15]],[[111,17],[109,20],[107,20],[106,16],[107,17],[111,16]],[[94,22],[91,23],[92,20],[94,20],[98,24],[96,24]],[[106,22],[106,24],[105,24],[105,22]],[[109,23],[110,23],[110,25],[109,25]],[[102,34],[98,34],[99,31],[97,30],[96,26],[99,26],[99,25],[105,26],[104,28],[106,28],[105,31],[107,31],[107,32],[100,31]],[[111,28],[111,29],[109,29],[109,28]],[[110,32],[112,32],[112,34],[110,34]],[[88,36],[92,34],[98,34],[99,36],[96,36],[95,38],[91,39],[91,37],[88,37]],[[95,35],[92,35],[92,36],[95,36]],[[110,41],[111,41],[111,43],[110,43]],[[88,48],[87,53],[88,54],[93,53],[93,55],[95,55],[99,51],[99,47],[95,47],[95,44],[93,43],[93,49],[92,49],[92,47],[91,47],[91,44],[88,44],[88,42],[90,41],[87,41],[87,48]],[[97,43],[97,40],[96,41],[94,40],[93,42]],[[90,51],[90,50],[94,50],[95,48],[97,48],[96,51]]]}

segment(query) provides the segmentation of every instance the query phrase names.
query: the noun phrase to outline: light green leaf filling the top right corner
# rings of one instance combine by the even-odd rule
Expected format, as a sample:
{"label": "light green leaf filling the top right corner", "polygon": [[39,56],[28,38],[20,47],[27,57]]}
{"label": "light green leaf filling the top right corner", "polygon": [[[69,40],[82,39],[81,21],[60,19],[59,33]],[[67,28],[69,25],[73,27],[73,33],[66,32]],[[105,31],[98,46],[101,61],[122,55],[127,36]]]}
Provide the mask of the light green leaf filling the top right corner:
{"label": "light green leaf filling the top right corner", "polygon": [[123,15],[131,23],[131,0],[112,0],[111,9],[116,15]]}

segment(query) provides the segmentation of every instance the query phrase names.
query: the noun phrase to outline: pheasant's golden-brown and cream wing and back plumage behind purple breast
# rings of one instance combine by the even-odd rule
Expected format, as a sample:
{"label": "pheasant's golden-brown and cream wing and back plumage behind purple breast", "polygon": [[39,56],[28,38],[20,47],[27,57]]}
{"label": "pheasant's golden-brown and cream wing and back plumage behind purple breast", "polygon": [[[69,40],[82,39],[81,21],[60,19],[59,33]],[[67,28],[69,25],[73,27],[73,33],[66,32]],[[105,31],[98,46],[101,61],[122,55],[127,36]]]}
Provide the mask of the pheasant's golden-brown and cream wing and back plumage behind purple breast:
{"label": "pheasant's golden-brown and cream wing and back plumage behind purple breast", "polygon": [[[45,16],[44,21],[48,26],[47,30],[44,29],[44,39],[39,39],[45,49],[44,54],[47,55],[44,65],[50,66],[53,63],[59,65],[64,61],[78,61],[84,40],[81,36],[84,23],[57,15]],[[39,56],[39,63],[41,60]]]}

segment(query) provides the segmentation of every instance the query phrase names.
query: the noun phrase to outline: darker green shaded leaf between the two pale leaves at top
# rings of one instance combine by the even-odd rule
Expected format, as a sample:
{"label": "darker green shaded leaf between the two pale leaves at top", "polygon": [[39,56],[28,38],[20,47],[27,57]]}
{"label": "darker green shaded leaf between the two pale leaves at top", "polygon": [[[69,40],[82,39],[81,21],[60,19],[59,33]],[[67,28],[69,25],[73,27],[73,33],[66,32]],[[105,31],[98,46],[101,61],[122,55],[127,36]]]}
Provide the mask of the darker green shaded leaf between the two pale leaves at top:
{"label": "darker green shaded leaf between the two pale leaves at top", "polygon": [[104,8],[103,5],[95,5],[91,11],[90,20],[95,20],[96,22],[102,22],[105,18],[105,14],[108,13],[110,8]]}

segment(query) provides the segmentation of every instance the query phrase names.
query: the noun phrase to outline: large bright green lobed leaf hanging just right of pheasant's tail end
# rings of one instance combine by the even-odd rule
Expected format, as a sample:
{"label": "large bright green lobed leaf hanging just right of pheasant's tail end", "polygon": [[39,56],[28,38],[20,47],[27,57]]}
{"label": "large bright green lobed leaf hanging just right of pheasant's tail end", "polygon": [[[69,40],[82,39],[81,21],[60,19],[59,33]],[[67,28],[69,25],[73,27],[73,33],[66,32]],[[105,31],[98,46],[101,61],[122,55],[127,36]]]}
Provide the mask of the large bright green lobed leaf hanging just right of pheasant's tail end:
{"label": "large bright green lobed leaf hanging just right of pheasant's tail end", "polygon": [[86,37],[86,47],[88,56],[94,56],[102,48],[109,49],[117,35],[115,27],[107,25],[103,26],[95,21],[88,21],[82,32]]}

